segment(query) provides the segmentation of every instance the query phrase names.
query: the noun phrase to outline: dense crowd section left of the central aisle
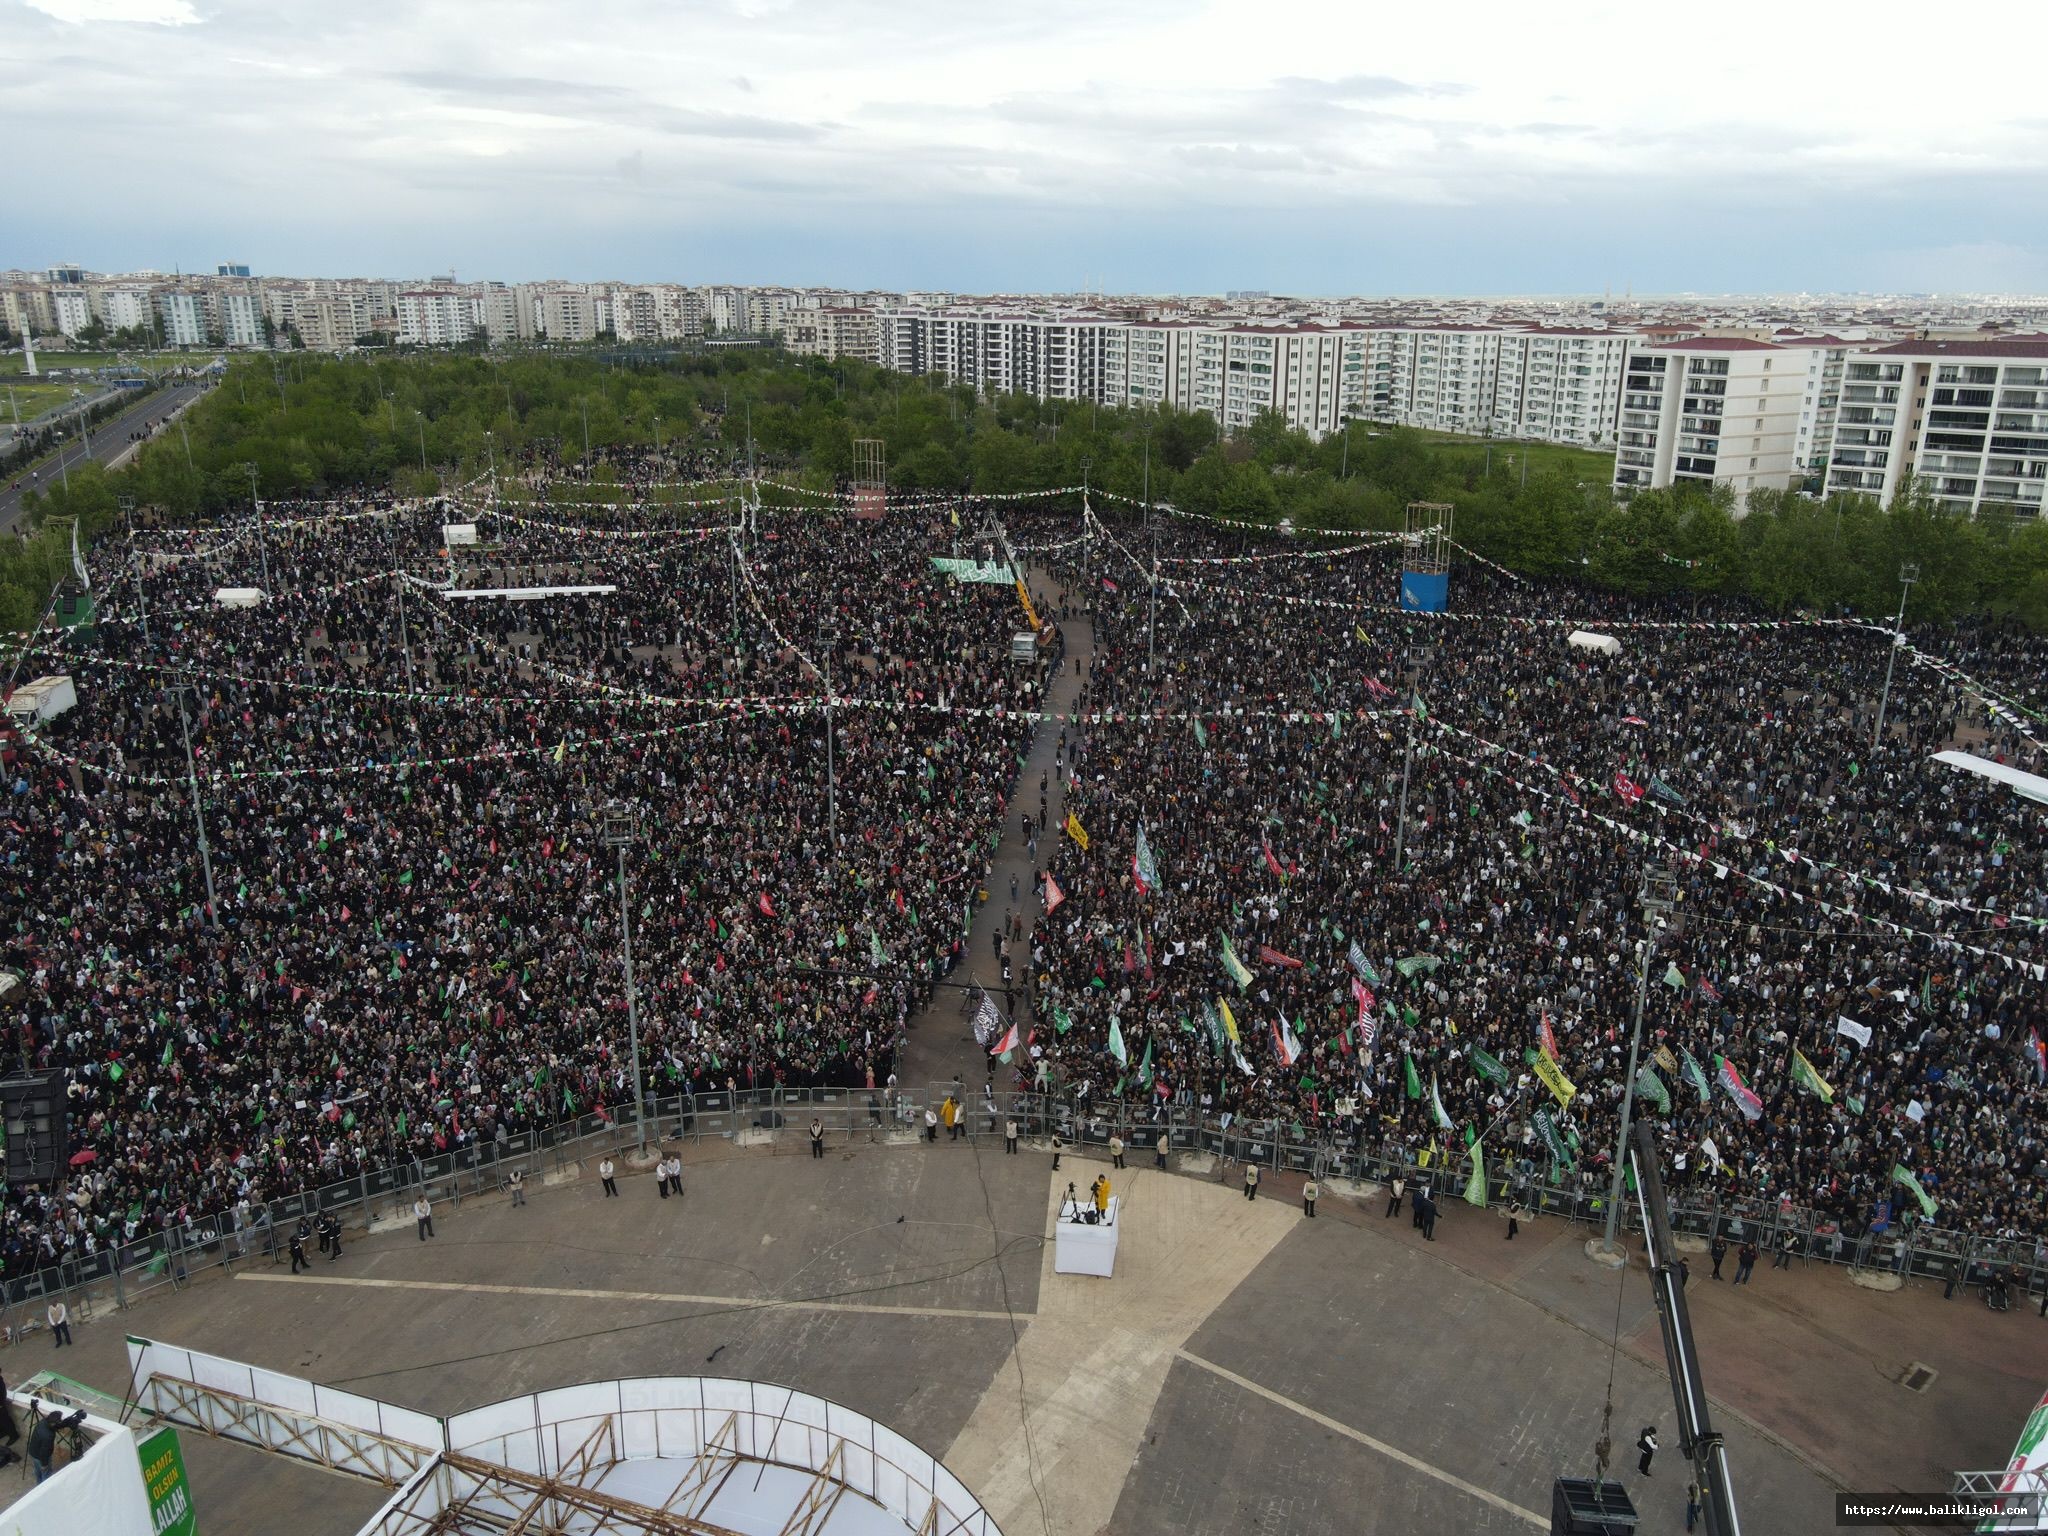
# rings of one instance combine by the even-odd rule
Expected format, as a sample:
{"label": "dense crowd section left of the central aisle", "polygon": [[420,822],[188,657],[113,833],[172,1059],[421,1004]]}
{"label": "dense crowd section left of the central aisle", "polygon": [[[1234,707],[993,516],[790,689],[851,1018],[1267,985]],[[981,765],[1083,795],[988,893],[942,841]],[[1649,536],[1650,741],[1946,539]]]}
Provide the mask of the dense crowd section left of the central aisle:
{"label": "dense crowd section left of the central aisle", "polygon": [[918,514],[598,522],[272,504],[94,553],[96,639],[20,664],[80,696],[8,768],[4,956],[78,1167],[6,1206],[8,1274],[629,1104],[621,805],[649,1092],[887,1079],[1040,696],[1014,598],[934,580]]}

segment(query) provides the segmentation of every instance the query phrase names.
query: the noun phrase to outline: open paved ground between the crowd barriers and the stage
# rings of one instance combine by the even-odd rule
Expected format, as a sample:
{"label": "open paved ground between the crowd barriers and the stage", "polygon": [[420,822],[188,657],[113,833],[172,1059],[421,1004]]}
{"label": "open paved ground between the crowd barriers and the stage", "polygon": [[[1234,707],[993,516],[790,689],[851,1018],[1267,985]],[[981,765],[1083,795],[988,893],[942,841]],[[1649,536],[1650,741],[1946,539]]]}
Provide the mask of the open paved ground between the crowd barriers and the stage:
{"label": "open paved ground between the crowd barriers and the stage", "polygon": [[[1008,1536],[1509,1532],[1544,1528],[1556,1475],[1591,1470],[1612,1374],[1614,1460],[1645,1532],[1683,1528],[1675,1440],[1640,1268],[1597,1270],[1583,1229],[1450,1206],[1438,1241],[1325,1194],[1307,1221],[1268,1178],[1114,1176],[1112,1280],[1057,1276],[1069,1178],[1100,1163],[999,1141],[801,1137],[690,1147],[688,1194],[594,1176],[526,1208],[469,1200],[440,1233],[358,1239],[311,1276],[244,1268],[158,1292],[6,1362],[121,1393],[123,1333],[162,1337],[432,1413],[539,1386],[729,1374],[848,1403],[938,1452]],[[1692,1282],[1700,1358],[1747,1532],[1833,1524],[1835,1487],[1933,1491],[2003,1464],[2048,1374],[2048,1323],[1939,1290],[1858,1290],[1841,1270]],[[1733,1274],[1733,1272],[1731,1272]],[[1620,1286],[1620,1292],[1616,1292]],[[1620,1307],[1616,1307],[1620,1300]],[[1620,1317],[1620,1348],[1614,1348]],[[1937,1376],[1896,1384],[1907,1362]],[[186,1436],[197,1440],[197,1436]],[[383,1497],[258,1452],[188,1450],[209,1532],[352,1532]]]}

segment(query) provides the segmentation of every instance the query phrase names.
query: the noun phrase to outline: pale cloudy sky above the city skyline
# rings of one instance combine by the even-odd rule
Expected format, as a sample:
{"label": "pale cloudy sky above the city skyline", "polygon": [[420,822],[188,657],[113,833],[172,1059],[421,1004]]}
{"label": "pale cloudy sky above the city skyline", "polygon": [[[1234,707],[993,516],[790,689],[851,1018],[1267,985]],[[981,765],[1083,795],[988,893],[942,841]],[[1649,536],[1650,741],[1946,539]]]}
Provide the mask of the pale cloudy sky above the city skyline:
{"label": "pale cloudy sky above the city skyline", "polygon": [[2048,4],[1933,14],[0,0],[0,266],[2048,293]]}

